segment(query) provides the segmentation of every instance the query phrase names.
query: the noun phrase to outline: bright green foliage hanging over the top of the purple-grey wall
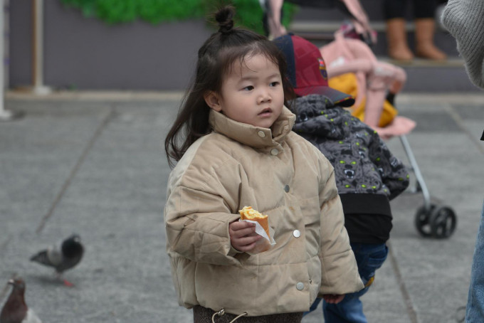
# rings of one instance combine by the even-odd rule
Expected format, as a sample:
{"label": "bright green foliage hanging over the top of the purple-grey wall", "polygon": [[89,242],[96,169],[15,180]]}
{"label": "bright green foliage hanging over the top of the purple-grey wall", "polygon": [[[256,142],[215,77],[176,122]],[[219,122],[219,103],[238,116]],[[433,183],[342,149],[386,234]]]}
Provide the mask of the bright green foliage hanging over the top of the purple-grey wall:
{"label": "bright green foliage hanging over the top of the purple-grey wall", "polygon": [[[222,4],[233,4],[235,22],[263,33],[263,11],[258,0],[61,0],[63,4],[80,9],[85,16],[106,23],[127,23],[141,19],[149,23],[204,18]],[[283,24],[288,26],[297,7],[284,4]]]}

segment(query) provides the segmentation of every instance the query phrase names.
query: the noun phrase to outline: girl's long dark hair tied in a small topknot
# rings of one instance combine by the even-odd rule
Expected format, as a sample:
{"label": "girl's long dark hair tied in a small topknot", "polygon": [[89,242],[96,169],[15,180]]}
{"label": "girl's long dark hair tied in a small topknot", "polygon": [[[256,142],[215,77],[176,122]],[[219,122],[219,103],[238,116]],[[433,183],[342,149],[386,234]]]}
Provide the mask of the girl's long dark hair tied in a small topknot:
{"label": "girl's long dark hair tied in a small topknot", "polygon": [[209,125],[210,107],[206,105],[204,95],[213,91],[221,92],[223,77],[230,72],[233,62],[243,63],[247,55],[265,55],[279,66],[283,78],[285,104],[294,97],[294,91],[287,78],[284,55],[275,43],[253,31],[233,27],[233,6],[225,6],[214,14],[219,31],[213,33],[199,49],[196,73],[189,90],[181,102],[174,125],[164,140],[168,163],[174,166],[183,157],[186,149],[196,139],[211,132]]}

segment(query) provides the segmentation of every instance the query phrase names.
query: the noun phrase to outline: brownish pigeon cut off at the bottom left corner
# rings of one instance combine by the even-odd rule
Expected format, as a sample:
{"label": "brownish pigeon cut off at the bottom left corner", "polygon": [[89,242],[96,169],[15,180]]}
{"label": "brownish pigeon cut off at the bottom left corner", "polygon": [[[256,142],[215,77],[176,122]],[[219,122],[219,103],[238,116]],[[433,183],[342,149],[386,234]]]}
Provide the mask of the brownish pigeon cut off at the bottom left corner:
{"label": "brownish pigeon cut off at the bottom left corner", "polygon": [[1,309],[0,323],[42,323],[41,319],[26,305],[23,295],[25,294],[25,282],[21,277],[9,280],[12,291]]}

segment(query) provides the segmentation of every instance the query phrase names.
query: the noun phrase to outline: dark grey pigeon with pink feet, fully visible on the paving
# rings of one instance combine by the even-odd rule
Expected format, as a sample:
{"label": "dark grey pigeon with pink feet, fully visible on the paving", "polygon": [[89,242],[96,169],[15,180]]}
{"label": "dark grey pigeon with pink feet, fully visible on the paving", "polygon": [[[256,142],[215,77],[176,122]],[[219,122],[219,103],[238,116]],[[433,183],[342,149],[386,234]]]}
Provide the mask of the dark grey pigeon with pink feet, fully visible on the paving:
{"label": "dark grey pigeon with pink feet, fully visible on the paving", "polygon": [[[77,234],[63,240],[61,245],[53,245],[46,250],[41,250],[33,255],[30,260],[42,265],[53,267],[57,277],[61,278],[65,270],[73,268],[83,258],[84,247]],[[67,286],[73,286],[71,282],[63,280]]]}

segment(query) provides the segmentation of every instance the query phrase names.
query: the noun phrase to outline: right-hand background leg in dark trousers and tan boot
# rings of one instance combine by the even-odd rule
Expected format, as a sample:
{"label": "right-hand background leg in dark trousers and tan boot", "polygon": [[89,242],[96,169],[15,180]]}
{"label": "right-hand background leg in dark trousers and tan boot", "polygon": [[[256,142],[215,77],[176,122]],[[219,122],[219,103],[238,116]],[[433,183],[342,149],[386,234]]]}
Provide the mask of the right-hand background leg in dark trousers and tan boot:
{"label": "right-hand background leg in dark trousers and tan boot", "polygon": [[415,16],[415,52],[422,58],[431,60],[445,60],[447,55],[436,48],[433,43],[437,9],[436,0],[414,0]]}

